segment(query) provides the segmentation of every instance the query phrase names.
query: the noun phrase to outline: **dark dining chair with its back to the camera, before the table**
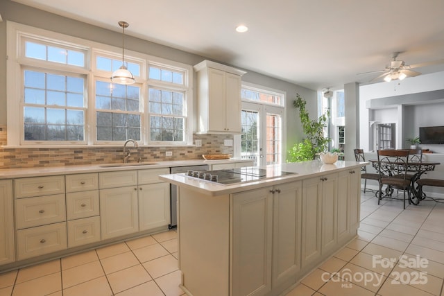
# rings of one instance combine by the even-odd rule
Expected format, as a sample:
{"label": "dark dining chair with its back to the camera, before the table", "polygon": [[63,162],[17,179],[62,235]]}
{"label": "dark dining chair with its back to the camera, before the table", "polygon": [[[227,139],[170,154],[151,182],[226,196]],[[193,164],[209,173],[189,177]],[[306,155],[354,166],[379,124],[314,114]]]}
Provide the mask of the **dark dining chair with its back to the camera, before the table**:
{"label": "dark dining chair with its back to the camera, before the table", "polygon": [[377,204],[382,199],[382,186],[404,191],[410,203],[410,179],[407,177],[409,168],[409,150],[377,150],[377,163],[379,171],[379,192]]}

